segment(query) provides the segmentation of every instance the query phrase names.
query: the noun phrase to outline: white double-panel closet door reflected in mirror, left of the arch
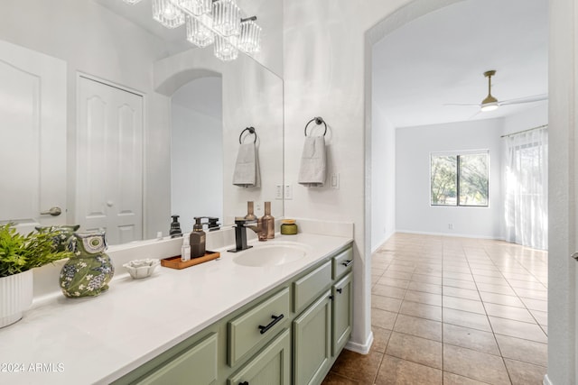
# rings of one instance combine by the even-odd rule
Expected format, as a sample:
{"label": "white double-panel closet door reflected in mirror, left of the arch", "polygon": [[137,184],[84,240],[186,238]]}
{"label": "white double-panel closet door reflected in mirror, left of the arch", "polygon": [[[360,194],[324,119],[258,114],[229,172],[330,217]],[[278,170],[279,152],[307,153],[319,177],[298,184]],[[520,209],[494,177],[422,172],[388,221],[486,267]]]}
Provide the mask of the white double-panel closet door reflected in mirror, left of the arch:
{"label": "white double-panel closet door reflected in mirror, left of the arch", "polygon": [[143,96],[79,77],[77,222],[110,244],[143,239]]}

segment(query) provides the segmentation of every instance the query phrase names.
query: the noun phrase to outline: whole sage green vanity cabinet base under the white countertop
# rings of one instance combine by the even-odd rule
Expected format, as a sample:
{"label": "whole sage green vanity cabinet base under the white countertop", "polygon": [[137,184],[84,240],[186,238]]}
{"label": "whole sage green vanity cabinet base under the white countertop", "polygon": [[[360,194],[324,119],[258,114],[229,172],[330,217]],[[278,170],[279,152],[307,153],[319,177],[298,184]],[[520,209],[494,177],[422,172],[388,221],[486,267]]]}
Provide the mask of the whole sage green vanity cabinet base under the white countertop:
{"label": "whole sage green vanity cabinet base under the white countertop", "polygon": [[113,384],[321,384],[351,335],[352,260],[343,247]]}

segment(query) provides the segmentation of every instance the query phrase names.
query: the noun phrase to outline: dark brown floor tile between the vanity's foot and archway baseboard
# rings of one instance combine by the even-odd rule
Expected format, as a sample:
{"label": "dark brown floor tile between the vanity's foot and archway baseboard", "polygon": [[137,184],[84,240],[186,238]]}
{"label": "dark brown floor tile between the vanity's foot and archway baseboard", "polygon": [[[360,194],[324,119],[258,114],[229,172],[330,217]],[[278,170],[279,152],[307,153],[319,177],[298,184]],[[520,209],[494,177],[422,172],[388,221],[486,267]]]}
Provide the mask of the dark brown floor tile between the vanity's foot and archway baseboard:
{"label": "dark brown floor tile between the vanity's foot and archway baseboard", "polygon": [[331,371],[350,380],[357,380],[362,384],[372,384],[378,374],[382,359],[383,353],[359,354],[343,350],[333,364]]}

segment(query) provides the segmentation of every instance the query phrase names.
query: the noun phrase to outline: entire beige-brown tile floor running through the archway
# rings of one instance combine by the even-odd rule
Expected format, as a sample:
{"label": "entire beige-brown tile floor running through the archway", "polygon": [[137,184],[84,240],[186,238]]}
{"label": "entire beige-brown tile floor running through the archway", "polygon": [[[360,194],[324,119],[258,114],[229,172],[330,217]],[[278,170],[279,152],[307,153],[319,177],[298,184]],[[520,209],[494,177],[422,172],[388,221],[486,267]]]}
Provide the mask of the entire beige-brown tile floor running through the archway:
{"label": "entire beige-brown tile floor running through the archway", "polygon": [[372,255],[367,355],[344,350],[332,384],[542,384],[547,252],[395,234]]}

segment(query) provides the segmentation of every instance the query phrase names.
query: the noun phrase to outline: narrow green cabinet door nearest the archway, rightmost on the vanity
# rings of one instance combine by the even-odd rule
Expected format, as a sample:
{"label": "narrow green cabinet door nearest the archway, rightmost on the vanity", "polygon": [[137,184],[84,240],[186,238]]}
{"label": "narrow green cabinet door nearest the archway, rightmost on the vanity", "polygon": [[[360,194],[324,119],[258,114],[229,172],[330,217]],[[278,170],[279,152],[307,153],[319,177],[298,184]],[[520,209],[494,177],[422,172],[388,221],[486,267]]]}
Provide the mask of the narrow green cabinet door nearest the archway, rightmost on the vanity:
{"label": "narrow green cabinet door nearest the archway, rightmost on the vanity", "polygon": [[333,294],[331,353],[336,356],[350,339],[352,324],[352,273],[331,288]]}

